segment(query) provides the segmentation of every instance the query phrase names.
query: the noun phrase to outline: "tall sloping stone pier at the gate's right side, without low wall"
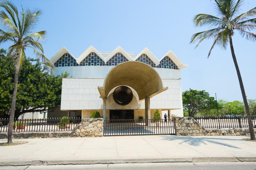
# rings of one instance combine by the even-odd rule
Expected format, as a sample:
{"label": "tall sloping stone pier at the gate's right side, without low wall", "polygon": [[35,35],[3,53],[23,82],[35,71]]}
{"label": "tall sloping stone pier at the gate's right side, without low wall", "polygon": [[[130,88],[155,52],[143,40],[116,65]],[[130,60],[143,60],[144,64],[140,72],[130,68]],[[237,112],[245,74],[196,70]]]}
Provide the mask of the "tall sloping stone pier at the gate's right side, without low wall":
{"label": "tall sloping stone pier at the gate's right side, without low wall", "polygon": [[175,118],[175,135],[182,136],[202,136],[205,129],[192,117],[177,117]]}

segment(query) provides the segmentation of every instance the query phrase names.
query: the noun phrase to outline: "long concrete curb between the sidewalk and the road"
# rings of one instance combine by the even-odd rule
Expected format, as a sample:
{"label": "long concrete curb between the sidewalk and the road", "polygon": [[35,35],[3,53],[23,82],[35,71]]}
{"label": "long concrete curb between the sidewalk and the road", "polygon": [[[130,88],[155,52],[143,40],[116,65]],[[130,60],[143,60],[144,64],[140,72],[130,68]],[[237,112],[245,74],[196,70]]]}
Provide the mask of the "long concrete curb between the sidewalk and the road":
{"label": "long concrete curb between the sidewalk and the road", "polygon": [[82,164],[124,164],[124,163],[164,163],[164,162],[256,162],[256,157],[207,157],[207,158],[157,158],[157,159],[114,159],[114,160],[50,160],[0,162],[0,166],[29,165],[82,165]]}

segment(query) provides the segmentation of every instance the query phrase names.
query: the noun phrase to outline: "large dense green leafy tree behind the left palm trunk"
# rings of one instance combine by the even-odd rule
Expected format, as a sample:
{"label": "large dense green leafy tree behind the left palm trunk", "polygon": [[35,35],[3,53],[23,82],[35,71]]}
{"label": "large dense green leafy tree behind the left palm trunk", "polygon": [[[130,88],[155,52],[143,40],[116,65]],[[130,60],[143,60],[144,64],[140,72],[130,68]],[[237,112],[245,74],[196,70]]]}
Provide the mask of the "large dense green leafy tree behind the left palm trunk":
{"label": "large dense green leafy tree behind the left palm trunk", "polygon": [[[14,88],[14,66],[0,49],[0,118],[9,118]],[[32,64],[34,63],[34,64]],[[62,77],[49,74],[39,59],[25,58],[19,72],[15,118],[27,112],[52,112],[60,106]]]}

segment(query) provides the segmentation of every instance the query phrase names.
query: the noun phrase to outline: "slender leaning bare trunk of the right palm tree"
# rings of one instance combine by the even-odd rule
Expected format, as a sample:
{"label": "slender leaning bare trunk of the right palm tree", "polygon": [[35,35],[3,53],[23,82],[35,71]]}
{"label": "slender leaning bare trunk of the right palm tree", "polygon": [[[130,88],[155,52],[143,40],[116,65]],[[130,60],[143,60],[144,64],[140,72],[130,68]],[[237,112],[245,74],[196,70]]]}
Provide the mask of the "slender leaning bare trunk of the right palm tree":
{"label": "slender leaning bare trunk of the right palm tree", "polygon": [[229,43],[230,43],[230,49],[231,49],[231,54],[232,54],[232,57],[233,57],[233,61],[234,61],[235,67],[236,67],[236,73],[237,73],[237,76],[238,76],[242,96],[243,96],[243,99],[244,99],[244,107],[245,107],[246,115],[247,115],[247,118],[248,118],[251,140],[256,140],[255,139],[255,134],[254,134],[254,129],[253,129],[253,126],[252,126],[252,117],[251,117],[251,114],[250,114],[249,105],[248,105],[247,98],[246,98],[245,91],[244,91],[244,84],[243,84],[242,77],[241,77],[241,74],[240,74],[240,71],[239,71],[239,67],[238,67],[238,64],[237,64],[237,61],[236,61],[236,55],[235,55],[235,51],[234,51],[231,36],[229,36]]}

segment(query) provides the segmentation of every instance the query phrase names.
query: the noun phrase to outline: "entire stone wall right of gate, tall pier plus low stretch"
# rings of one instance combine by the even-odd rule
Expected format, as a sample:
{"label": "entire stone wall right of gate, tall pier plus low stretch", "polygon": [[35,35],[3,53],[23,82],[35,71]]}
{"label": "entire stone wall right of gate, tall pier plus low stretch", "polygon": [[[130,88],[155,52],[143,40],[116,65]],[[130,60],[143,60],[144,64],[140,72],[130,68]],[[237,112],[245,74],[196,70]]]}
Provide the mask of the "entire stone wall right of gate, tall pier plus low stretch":
{"label": "entire stone wall right of gate, tall pier plus low stretch", "polygon": [[[236,135],[250,135],[249,128],[203,128],[192,117],[177,117],[175,118],[175,135],[182,136],[236,136]],[[256,135],[256,128],[254,128]]]}

